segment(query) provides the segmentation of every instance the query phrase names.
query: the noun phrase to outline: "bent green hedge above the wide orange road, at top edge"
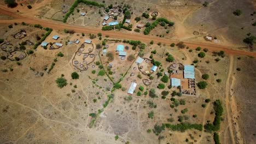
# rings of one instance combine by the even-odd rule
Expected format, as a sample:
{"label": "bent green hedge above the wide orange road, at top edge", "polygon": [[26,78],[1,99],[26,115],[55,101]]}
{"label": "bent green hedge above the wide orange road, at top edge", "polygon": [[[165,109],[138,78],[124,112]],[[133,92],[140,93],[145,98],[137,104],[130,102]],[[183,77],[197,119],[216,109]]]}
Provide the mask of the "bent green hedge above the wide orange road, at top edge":
{"label": "bent green hedge above the wide orange road, at top edge", "polygon": [[94,2],[94,1],[75,0],[74,3],[71,5],[69,11],[66,13],[66,15],[63,19],[63,22],[67,22],[67,19],[68,19],[69,15],[71,15],[74,12],[75,8],[78,6],[79,3],[84,3],[84,4],[87,4],[87,5],[93,5],[93,6],[96,6],[96,7],[104,7],[104,4],[100,4],[100,3],[97,3],[97,2]]}

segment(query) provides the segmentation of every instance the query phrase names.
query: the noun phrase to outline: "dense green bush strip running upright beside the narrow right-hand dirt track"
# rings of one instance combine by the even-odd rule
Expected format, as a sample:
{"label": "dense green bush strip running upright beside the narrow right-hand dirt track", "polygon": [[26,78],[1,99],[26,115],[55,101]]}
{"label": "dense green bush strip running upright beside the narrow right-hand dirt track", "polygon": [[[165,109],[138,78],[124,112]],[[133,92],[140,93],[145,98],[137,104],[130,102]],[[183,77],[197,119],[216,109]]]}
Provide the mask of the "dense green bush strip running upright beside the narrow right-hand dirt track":
{"label": "dense green bush strip running upright beside the narrow right-hand dirt track", "polygon": [[217,131],[220,128],[220,122],[223,114],[223,106],[222,106],[222,102],[219,99],[214,101],[213,109],[215,111],[215,118],[213,123],[207,123],[204,126],[205,129],[210,132]]}

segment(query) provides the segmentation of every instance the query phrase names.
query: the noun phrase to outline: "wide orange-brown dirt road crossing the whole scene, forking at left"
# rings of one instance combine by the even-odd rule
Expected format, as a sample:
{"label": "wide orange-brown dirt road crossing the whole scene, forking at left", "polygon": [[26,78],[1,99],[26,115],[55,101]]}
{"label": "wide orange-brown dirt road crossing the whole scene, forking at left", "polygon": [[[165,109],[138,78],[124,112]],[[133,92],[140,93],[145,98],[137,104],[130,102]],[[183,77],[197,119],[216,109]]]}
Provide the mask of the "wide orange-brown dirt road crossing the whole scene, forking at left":
{"label": "wide orange-brown dirt road crossing the whole scene, forking at left", "polygon": [[[130,39],[130,40],[141,40],[144,43],[149,43],[151,40],[154,40],[154,43],[162,43],[170,45],[172,43],[178,43],[179,40],[173,39],[165,39],[159,37],[153,37],[150,35],[142,35],[142,34],[133,34],[133,33],[124,33],[124,32],[115,32],[115,31],[102,31],[100,28],[94,27],[82,27],[82,26],[74,26],[68,25],[66,23],[57,22],[57,21],[49,21],[44,19],[39,19],[37,17],[30,17],[25,15],[19,15],[18,13],[14,13],[11,9],[8,9],[2,5],[0,5],[0,13],[4,15],[8,15],[13,17],[13,20],[0,20],[0,23],[11,24],[14,22],[26,22],[30,24],[40,24],[43,27],[50,27],[55,30],[63,30],[63,29],[72,29],[75,32],[80,33],[102,33],[103,35],[109,35],[110,38],[118,38],[118,39]],[[231,55],[247,55],[256,57],[256,52],[242,51],[242,50],[234,50],[232,46],[224,46],[218,44],[208,44],[208,43],[197,43],[194,41],[183,41],[185,45],[189,46],[191,49],[195,49],[197,46],[202,48],[207,48],[209,51],[224,51],[225,53],[229,53]]]}

